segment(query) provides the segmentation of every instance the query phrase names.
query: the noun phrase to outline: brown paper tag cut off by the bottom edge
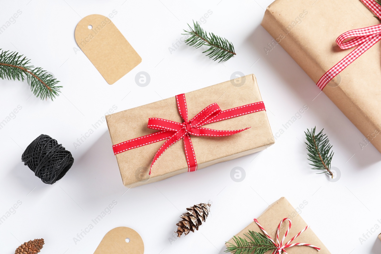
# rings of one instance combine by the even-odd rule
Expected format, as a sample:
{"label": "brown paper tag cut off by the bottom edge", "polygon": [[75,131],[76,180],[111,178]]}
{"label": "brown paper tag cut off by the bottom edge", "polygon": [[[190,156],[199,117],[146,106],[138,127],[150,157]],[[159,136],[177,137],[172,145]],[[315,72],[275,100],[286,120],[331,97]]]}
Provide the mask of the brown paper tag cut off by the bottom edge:
{"label": "brown paper tag cut off by the bottom edge", "polygon": [[[128,242],[127,242],[128,241]],[[143,254],[144,244],[140,235],[128,227],[110,230],[99,243],[94,254]]]}

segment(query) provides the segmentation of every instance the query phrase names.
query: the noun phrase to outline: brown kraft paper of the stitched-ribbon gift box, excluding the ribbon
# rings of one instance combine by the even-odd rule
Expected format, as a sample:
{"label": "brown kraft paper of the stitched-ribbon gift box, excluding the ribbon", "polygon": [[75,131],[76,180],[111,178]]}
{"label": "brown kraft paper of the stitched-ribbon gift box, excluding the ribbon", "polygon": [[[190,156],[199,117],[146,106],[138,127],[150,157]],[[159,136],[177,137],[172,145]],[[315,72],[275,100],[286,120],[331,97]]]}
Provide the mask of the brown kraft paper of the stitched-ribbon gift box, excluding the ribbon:
{"label": "brown kraft paper of the stitched-ribbon gift box, excluding the ribbon", "polygon": [[[253,74],[242,77],[240,85],[242,86],[236,86],[234,81],[226,81],[185,93],[188,119],[192,119],[213,103],[217,103],[222,110],[227,110],[262,101]],[[264,104],[266,105],[266,102]],[[147,128],[148,118],[154,117],[183,122],[175,97],[107,115],[107,126],[112,144],[116,145],[157,132],[157,130]],[[202,127],[216,130],[251,128],[224,137],[191,135],[198,164],[197,169],[264,150],[275,142],[265,110],[209,123]],[[150,177],[148,176],[152,159],[164,142],[159,141],[116,154],[125,186],[136,187],[188,171],[184,141],[181,139],[161,155],[152,167]],[[111,146],[110,149],[112,149]]]}

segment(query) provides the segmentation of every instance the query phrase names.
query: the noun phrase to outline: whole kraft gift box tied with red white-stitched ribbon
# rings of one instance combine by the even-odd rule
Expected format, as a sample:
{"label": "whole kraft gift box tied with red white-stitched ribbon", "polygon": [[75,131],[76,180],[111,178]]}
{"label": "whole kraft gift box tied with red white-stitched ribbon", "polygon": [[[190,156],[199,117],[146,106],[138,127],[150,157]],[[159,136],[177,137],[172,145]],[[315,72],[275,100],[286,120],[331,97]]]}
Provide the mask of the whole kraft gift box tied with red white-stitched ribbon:
{"label": "whole kraft gift box tied with red white-stitched ribbon", "polygon": [[127,187],[242,157],[275,142],[254,75],[106,119]]}

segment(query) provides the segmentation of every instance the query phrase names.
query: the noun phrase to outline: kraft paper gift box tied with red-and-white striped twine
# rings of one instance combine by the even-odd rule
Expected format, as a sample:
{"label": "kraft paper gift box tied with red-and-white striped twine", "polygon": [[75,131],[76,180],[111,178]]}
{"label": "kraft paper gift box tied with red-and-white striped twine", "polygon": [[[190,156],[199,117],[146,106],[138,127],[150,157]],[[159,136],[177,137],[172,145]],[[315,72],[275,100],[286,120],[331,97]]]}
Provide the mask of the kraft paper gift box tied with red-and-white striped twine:
{"label": "kraft paper gift box tied with red-and-white striped twine", "polygon": [[[232,246],[238,246],[239,239],[250,243],[252,241],[250,237],[252,238],[253,235],[261,239],[255,234],[260,234],[264,238],[261,246],[267,246],[268,251],[262,249],[262,252],[253,250],[253,252],[240,253],[330,254],[322,241],[284,197],[272,203],[261,216],[254,219],[254,222],[227,241],[226,248],[229,250]],[[245,245],[250,246],[250,244],[241,244],[240,251]],[[259,250],[256,249],[256,251]]]}

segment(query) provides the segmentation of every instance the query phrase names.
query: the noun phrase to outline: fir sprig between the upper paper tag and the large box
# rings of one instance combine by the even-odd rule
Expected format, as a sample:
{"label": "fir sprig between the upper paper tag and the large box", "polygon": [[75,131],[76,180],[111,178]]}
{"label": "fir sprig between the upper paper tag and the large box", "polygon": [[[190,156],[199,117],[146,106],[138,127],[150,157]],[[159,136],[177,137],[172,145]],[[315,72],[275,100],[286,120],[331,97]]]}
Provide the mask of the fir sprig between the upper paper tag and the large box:
{"label": "fir sprig between the upper paper tag and the large box", "polygon": [[193,21],[193,26],[193,28],[189,26],[190,31],[184,30],[186,32],[184,35],[191,35],[185,40],[187,45],[195,48],[200,48],[202,45],[208,46],[209,48],[202,53],[208,53],[207,56],[214,61],[219,59],[218,62],[227,61],[235,55],[231,42],[213,33],[205,32],[197,21],[196,23]]}

